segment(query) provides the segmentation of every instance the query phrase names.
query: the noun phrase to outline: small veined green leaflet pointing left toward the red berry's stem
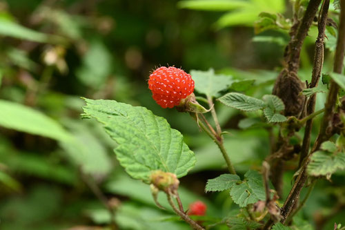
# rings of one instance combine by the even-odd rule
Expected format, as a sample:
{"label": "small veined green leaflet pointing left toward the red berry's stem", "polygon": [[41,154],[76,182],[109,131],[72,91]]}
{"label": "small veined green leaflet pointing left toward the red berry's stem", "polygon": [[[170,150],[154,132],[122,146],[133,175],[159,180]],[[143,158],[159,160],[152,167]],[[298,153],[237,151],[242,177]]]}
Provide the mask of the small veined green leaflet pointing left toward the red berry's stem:
{"label": "small veined green leaflet pointing left toward the red berry's stem", "polygon": [[219,98],[219,102],[241,111],[257,111],[266,106],[264,101],[242,93],[227,93]]}

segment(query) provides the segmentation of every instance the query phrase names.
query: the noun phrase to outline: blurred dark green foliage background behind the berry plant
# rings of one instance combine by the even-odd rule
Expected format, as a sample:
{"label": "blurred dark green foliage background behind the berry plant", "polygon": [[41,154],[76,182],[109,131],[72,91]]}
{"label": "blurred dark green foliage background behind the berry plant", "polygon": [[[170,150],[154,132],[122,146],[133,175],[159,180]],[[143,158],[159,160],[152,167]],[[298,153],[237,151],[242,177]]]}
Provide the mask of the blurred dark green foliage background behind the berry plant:
{"label": "blurred dark green foliage background behind the berry plant", "polygon": [[[290,22],[257,35],[255,21],[262,11],[290,17],[290,1],[243,0],[228,8],[217,2],[0,1],[0,229],[108,229],[110,214],[97,188],[115,209],[118,229],[189,229],[171,209],[155,207],[149,186],[128,178],[112,152],[115,142],[96,122],[81,120],[80,97],[146,106],[168,119],[197,155],[193,171],[181,178],[184,206],[203,200],[209,222],[237,211],[227,192],[204,193],[206,180],[226,171],[217,146],[188,114],[155,104],[147,86],[153,69],[169,65],[186,72],[213,68],[253,80],[243,88],[248,95],[271,93]],[[311,75],[316,34],[313,26],[302,50],[302,79]],[[334,44],[328,33],[325,72]],[[323,103],[321,95],[318,106]],[[270,152],[268,129],[260,119],[252,127],[244,120],[258,114],[215,106],[230,131],[225,145],[236,169],[259,169]],[[285,197],[292,174],[284,178]],[[345,216],[344,175],[332,180],[317,184],[298,216],[305,229],[331,229]],[[167,207],[164,195],[159,201]]]}

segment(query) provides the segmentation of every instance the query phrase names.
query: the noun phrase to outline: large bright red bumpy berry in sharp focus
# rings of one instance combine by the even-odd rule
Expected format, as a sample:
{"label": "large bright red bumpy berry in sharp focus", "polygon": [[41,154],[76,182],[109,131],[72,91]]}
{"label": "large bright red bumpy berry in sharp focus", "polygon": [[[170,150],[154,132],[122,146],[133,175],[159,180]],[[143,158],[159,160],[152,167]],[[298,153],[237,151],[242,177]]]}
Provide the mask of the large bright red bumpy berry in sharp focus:
{"label": "large bright red bumpy berry in sharp focus", "polygon": [[192,76],[180,68],[159,67],[150,75],[148,88],[152,97],[162,108],[178,106],[181,99],[194,91]]}

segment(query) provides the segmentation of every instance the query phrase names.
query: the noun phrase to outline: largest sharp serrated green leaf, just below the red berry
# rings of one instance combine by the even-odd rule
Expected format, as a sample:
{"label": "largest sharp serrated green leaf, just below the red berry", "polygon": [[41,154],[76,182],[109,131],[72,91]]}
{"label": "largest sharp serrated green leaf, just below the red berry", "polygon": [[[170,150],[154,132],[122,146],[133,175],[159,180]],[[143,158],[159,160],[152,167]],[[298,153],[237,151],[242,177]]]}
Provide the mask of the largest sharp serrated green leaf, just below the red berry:
{"label": "largest sharp serrated green leaf, just below the red berry", "polygon": [[147,108],[110,100],[85,99],[83,111],[94,117],[119,144],[117,159],[132,178],[148,183],[152,171],[186,175],[195,165],[195,155],[179,131]]}

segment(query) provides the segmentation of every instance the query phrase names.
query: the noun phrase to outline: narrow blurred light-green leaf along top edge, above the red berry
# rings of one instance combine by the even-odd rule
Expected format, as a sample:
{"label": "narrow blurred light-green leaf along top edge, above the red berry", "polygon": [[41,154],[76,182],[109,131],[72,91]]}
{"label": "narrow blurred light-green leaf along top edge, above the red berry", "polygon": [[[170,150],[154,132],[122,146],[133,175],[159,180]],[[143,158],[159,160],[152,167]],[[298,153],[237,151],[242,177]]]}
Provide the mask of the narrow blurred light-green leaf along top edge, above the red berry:
{"label": "narrow blurred light-green leaf along top edge, above the red berry", "polygon": [[226,11],[234,10],[248,6],[250,3],[241,0],[194,0],[194,1],[179,1],[177,6],[179,8],[186,8],[191,10],[215,10]]}

